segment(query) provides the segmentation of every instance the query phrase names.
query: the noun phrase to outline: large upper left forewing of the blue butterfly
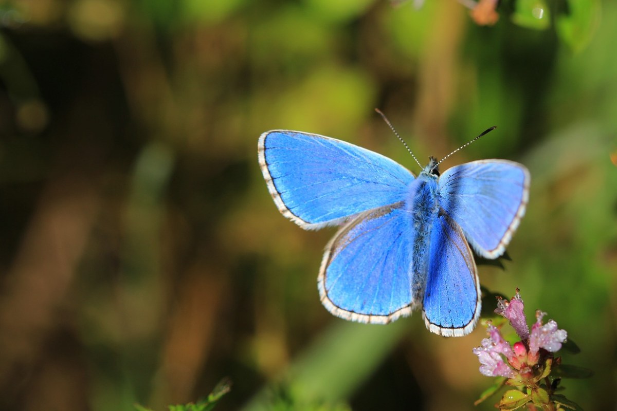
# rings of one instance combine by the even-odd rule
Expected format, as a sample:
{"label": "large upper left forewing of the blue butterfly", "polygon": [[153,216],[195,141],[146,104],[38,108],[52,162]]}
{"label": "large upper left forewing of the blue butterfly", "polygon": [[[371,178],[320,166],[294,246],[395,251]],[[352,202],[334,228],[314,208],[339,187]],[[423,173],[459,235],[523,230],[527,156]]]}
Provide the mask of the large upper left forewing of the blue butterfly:
{"label": "large upper left forewing of the blue butterfly", "polygon": [[414,179],[383,155],[299,131],[263,133],[259,164],[279,211],[304,229],[401,201]]}

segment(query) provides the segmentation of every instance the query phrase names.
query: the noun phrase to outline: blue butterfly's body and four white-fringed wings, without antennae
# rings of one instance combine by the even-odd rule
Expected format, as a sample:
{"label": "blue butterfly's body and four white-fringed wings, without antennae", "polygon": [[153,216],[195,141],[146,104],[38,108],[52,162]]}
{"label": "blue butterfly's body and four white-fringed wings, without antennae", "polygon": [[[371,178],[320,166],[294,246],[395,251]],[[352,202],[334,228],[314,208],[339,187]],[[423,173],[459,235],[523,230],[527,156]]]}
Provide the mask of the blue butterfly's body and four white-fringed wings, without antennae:
{"label": "blue butterfly's body and four white-fringed wings, without antennae", "polygon": [[[416,160],[417,161],[417,160]],[[529,171],[480,160],[415,177],[354,144],[300,131],[267,131],[259,164],[278,210],[303,229],[341,226],[317,279],[337,317],[386,324],[422,307],[443,336],[471,332],[481,311],[473,249],[503,254],[525,213]]]}

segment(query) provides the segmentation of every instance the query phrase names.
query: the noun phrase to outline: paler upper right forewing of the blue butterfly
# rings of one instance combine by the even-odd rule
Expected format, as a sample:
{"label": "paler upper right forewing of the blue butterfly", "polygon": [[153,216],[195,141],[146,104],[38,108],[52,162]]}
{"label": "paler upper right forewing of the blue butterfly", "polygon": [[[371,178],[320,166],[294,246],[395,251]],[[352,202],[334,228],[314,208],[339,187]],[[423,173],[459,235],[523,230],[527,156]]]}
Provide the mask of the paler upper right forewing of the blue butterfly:
{"label": "paler upper right forewing of the blue butterfly", "polygon": [[439,177],[439,197],[476,253],[494,259],[503,254],[525,213],[529,171],[507,160],[465,163]]}

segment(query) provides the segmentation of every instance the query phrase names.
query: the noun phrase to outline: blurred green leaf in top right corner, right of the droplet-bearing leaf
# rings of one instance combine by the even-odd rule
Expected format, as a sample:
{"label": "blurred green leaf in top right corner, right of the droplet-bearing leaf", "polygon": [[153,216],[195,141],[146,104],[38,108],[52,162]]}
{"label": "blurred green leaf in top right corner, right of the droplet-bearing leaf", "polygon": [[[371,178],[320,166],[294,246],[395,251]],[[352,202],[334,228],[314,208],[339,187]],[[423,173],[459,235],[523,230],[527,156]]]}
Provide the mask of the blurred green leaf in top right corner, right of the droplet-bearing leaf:
{"label": "blurred green leaf in top right corner, right of the droplet-bearing leaf", "polygon": [[584,49],[600,22],[600,0],[568,0],[568,13],[555,23],[557,35],[574,52]]}

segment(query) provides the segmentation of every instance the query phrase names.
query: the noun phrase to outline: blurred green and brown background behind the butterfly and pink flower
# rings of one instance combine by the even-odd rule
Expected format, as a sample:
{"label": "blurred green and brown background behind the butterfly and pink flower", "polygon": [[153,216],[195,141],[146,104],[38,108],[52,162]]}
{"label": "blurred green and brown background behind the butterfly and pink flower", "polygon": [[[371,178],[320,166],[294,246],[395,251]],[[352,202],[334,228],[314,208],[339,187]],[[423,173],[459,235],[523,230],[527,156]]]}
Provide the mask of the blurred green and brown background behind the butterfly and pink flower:
{"label": "blurred green and brown background behind the butterfly and pink flower", "polygon": [[564,362],[595,372],[565,393],[615,409],[617,2],[503,0],[494,26],[412,3],[0,1],[0,409],[163,410],[223,377],[217,410],[493,409],[473,405],[484,327],[333,317],[334,229],[287,221],[263,182],[275,128],[417,173],[375,107],[422,162],[498,126],[442,166],[531,171],[513,261],[481,282],[565,328]]}

